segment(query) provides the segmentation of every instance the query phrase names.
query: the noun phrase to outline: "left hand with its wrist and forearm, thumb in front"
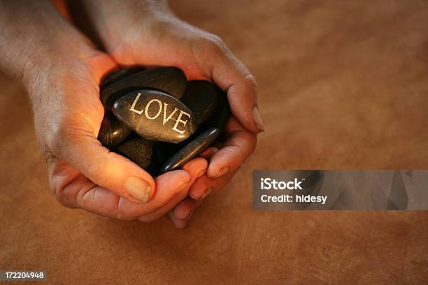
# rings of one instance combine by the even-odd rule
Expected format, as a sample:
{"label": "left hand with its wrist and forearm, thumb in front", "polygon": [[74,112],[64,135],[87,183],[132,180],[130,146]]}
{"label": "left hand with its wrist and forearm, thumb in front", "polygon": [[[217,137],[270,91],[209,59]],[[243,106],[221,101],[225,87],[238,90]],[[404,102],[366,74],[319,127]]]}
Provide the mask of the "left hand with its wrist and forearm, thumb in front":
{"label": "left hand with its wrist and forearm, thumb in front", "polygon": [[[206,159],[154,180],[135,163],[109,152],[97,140],[104,116],[99,82],[115,62],[95,50],[49,1],[15,2],[0,3],[5,43],[0,52],[10,54],[1,57],[0,64],[29,91],[55,197],[67,207],[117,219],[162,217],[205,173]],[[19,15],[26,21],[16,21]]]}

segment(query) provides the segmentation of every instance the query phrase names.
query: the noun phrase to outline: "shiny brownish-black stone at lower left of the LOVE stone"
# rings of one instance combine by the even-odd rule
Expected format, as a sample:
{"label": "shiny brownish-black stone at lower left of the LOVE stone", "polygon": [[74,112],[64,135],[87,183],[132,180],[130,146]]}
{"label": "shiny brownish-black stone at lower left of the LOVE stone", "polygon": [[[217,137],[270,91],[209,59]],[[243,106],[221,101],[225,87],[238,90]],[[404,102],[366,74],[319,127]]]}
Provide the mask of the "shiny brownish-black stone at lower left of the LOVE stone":
{"label": "shiny brownish-black stone at lower left of the LOVE stone", "polygon": [[122,124],[112,112],[104,114],[98,133],[98,140],[107,147],[114,147],[123,142],[131,133],[131,129]]}

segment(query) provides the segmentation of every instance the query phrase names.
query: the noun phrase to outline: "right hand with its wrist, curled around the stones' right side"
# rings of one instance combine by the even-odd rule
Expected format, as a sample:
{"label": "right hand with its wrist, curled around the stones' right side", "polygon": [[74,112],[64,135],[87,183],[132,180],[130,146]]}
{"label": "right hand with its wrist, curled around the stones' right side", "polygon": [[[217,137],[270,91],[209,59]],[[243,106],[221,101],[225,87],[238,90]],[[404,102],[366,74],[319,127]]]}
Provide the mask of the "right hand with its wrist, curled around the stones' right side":
{"label": "right hand with its wrist, curled around the stones' right side", "polygon": [[255,79],[220,38],[178,20],[165,1],[86,0],[85,5],[118,64],[177,66],[188,80],[211,80],[227,92],[233,115],[227,141],[221,149],[204,152],[209,159],[206,174],[169,214],[173,224],[183,228],[200,200],[227,184],[255,148],[255,133],[263,130]]}

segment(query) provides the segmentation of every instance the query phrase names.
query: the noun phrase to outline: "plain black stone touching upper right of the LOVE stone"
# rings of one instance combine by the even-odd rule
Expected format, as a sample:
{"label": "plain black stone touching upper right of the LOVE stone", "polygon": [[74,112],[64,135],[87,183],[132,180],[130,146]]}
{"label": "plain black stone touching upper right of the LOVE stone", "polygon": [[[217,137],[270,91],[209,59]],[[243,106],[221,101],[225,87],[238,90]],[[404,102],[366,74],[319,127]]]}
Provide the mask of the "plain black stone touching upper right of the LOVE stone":
{"label": "plain black stone touching upper right of the LOVE stone", "polygon": [[197,124],[201,124],[213,114],[218,101],[217,88],[206,80],[187,82],[186,92],[181,101],[193,112]]}

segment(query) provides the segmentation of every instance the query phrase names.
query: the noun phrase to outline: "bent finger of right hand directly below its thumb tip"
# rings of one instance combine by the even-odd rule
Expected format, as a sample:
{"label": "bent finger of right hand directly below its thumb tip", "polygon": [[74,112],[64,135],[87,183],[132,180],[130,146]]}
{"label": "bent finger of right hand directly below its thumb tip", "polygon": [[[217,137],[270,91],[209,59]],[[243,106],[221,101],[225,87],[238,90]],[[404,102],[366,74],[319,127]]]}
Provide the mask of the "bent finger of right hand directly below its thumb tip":
{"label": "bent finger of right hand directly below its thumb tip", "polygon": [[247,159],[257,145],[257,137],[243,129],[234,117],[226,126],[227,140],[210,159],[207,175],[213,179],[236,170]]}

